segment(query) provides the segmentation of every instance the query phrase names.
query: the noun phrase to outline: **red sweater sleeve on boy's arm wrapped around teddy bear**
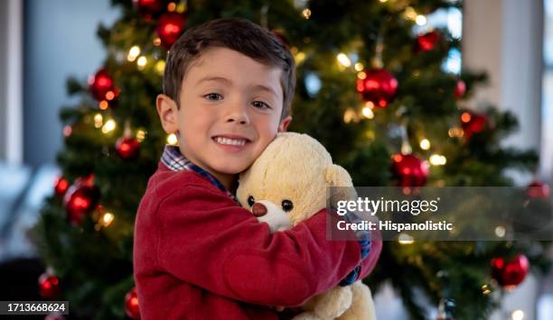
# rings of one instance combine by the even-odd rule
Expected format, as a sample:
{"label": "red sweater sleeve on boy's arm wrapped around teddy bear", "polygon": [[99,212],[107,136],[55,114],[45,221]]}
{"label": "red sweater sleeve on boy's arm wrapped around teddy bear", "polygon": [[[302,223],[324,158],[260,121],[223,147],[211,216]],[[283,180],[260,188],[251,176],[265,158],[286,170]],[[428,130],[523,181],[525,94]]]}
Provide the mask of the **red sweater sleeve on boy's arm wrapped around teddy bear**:
{"label": "red sweater sleeve on boy's arm wrapped around teddy bear", "polygon": [[358,242],[327,241],[325,211],[286,232],[208,187],[179,187],[157,210],[162,270],[224,297],[299,306],[361,261]]}

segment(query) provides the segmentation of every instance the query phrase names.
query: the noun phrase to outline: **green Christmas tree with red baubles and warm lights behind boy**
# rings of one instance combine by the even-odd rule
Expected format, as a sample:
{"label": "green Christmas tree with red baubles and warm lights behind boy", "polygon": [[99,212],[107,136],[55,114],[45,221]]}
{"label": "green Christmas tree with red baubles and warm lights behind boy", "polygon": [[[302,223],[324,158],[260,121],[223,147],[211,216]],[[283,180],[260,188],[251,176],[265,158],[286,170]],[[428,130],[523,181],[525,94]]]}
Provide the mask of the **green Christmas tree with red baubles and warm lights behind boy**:
{"label": "green Christmas tree with red baubles and warm lights behind boy", "polygon": [[[417,28],[427,14],[461,9],[460,2],[112,3],[122,15],[98,28],[104,64],[88,80],[68,80],[69,93],[81,99],[61,112],[62,174],[34,230],[49,266],[40,279],[42,296],[69,300],[75,317],[139,317],[132,273],[136,208],[164,144],[176,142],[155,112],[164,59],[187,28],[214,18],[247,18],[286,43],[298,83],[290,131],[322,142],[356,186],[509,186],[504,169],[537,165],[533,151],[501,148],[501,138],[517,127],[511,114],[464,104],[485,75],[444,69],[460,39],[447,29]],[[534,187],[532,197],[547,197],[547,186]],[[546,247],[385,242],[366,282],[376,290],[391,280],[413,319],[425,318],[417,292],[440,306],[444,318],[485,319],[497,306],[492,291],[517,286],[529,260],[546,269],[540,258]]]}

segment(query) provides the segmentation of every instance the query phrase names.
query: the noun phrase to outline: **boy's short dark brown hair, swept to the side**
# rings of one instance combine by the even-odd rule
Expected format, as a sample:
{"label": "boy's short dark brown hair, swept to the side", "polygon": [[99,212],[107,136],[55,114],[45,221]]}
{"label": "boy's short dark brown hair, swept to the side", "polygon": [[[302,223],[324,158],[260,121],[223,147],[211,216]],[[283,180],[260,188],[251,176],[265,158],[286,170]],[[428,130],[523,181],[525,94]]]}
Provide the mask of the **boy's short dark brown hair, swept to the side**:
{"label": "boy's short dark brown hair, swept to the side", "polygon": [[277,36],[246,19],[222,18],[195,26],[176,41],[168,53],[164,70],[164,94],[179,104],[184,74],[202,51],[223,47],[282,69],[283,91],[281,119],[290,114],[295,90],[295,62],[286,44]]}

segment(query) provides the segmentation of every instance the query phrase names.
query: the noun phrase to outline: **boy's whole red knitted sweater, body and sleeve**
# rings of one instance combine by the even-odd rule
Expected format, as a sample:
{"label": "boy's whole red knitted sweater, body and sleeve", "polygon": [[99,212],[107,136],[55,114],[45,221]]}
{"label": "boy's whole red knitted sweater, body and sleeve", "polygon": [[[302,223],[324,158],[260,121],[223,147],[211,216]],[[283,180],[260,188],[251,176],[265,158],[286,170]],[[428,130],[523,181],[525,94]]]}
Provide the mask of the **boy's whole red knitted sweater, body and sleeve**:
{"label": "boy's whole red knitted sweater, body and sleeve", "polygon": [[[355,241],[327,241],[326,216],[269,233],[201,175],[160,162],[136,215],[142,320],[277,319],[268,306],[299,306],[333,288],[360,263],[361,251]],[[372,241],[361,278],[381,246]]]}

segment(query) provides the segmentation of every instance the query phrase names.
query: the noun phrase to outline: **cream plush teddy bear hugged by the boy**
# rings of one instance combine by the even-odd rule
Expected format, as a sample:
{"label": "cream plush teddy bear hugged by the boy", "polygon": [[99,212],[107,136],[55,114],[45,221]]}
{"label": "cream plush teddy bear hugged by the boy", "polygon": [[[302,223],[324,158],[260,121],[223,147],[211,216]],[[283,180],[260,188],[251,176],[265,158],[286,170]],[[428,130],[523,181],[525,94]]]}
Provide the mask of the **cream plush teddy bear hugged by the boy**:
{"label": "cream plush teddy bear hugged by the boy", "polygon": [[[239,176],[237,197],[270,232],[290,229],[327,204],[327,187],[344,187],[333,197],[353,198],[351,177],[307,134],[278,133]],[[307,300],[295,320],[376,319],[370,288],[361,281],[335,287]]]}

